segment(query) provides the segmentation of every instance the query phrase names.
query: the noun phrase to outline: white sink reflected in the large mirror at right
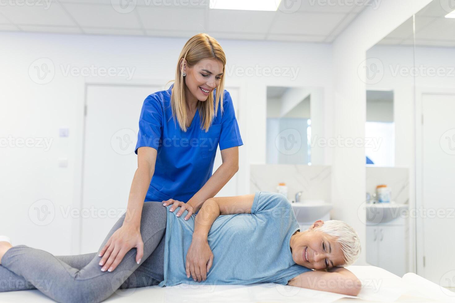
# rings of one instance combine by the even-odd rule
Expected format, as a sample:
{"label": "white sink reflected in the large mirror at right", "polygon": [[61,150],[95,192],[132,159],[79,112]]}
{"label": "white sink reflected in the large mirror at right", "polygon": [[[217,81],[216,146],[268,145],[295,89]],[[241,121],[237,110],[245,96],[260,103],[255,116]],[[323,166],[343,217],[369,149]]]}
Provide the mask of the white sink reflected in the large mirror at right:
{"label": "white sink reflected in the large mirror at right", "polygon": [[367,224],[387,223],[403,218],[407,214],[407,204],[376,203],[366,204]]}

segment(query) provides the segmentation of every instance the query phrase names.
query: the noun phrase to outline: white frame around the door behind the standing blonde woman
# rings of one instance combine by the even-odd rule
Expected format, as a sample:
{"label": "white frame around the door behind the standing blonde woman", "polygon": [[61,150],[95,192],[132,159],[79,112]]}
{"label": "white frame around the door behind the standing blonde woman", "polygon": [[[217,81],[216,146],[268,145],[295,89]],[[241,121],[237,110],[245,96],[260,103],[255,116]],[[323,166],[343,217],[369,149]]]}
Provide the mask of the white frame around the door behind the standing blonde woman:
{"label": "white frame around the door behind the standing blonde woman", "polygon": [[[76,105],[76,121],[81,124],[76,124],[75,129],[75,154],[76,159],[74,163],[75,174],[74,174],[74,186],[73,186],[73,201],[72,207],[74,209],[81,209],[83,206],[83,191],[84,191],[84,159],[85,159],[85,141],[86,141],[86,106],[87,106],[87,90],[89,86],[142,86],[142,87],[162,87],[166,89],[169,86],[166,79],[135,79],[125,82],[122,79],[103,79],[102,81],[96,77],[88,77],[83,83],[78,85],[83,92],[81,95],[81,101]],[[246,139],[247,134],[247,116],[243,114],[243,109],[247,108],[246,102],[246,84],[243,81],[229,80],[228,84],[224,84],[225,87],[232,87],[239,90],[239,102],[238,102],[238,113],[237,120],[239,122],[240,134],[243,140]],[[154,92],[151,92],[151,94]],[[244,148],[243,153],[239,150],[239,167],[242,165],[247,168],[247,149]],[[245,173],[239,174],[237,178],[237,194],[249,191],[248,169]],[[82,240],[82,218],[74,219],[71,224],[71,254],[81,253],[81,240]]]}

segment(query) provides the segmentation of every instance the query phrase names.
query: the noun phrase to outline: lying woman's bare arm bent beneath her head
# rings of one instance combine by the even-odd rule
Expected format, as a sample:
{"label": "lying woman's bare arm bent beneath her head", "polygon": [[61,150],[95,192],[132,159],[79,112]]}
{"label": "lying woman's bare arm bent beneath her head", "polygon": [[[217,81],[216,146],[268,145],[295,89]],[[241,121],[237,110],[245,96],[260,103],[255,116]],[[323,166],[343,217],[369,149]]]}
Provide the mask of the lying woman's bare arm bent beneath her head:
{"label": "lying woman's bare arm bent beneath her head", "polygon": [[289,280],[288,285],[350,296],[357,296],[362,288],[362,283],[354,273],[343,267],[301,273]]}

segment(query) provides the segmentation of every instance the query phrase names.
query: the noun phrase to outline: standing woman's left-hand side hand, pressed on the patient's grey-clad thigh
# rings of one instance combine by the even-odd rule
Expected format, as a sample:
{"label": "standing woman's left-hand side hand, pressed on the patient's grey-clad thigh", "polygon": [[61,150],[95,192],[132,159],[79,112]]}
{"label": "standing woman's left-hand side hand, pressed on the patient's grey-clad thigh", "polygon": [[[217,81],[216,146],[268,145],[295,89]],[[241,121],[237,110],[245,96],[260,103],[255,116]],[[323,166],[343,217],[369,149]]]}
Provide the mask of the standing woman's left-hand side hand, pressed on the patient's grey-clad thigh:
{"label": "standing woman's left-hand side hand, pressed on the patient's grey-clad thigh", "polygon": [[99,263],[100,266],[104,265],[101,271],[113,271],[131,248],[136,248],[136,263],[139,264],[144,255],[140,227],[122,225],[112,234],[98,255],[103,257]]}

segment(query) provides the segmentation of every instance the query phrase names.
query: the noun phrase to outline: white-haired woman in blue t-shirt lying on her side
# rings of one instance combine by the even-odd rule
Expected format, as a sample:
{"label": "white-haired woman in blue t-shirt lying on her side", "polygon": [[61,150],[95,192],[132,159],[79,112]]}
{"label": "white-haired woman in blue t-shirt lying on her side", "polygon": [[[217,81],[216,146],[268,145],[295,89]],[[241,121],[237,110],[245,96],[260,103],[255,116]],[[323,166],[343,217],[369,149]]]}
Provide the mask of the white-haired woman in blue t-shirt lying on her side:
{"label": "white-haired woman in blue t-shirt lying on her side", "polygon": [[[177,217],[172,205],[147,202],[142,210],[143,262],[136,248],[116,264],[106,236],[98,253],[56,257],[0,242],[0,291],[37,288],[58,302],[101,302],[118,288],[180,283],[280,283],[357,295],[361,284],[341,266],[359,256],[357,233],[341,221],[316,221],[299,231],[281,194],[208,199],[197,215]],[[101,257],[100,257],[101,256]],[[101,271],[111,263],[111,271]],[[112,262],[113,261],[113,262]],[[8,283],[9,281],[9,283]]]}

